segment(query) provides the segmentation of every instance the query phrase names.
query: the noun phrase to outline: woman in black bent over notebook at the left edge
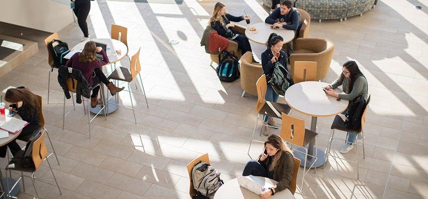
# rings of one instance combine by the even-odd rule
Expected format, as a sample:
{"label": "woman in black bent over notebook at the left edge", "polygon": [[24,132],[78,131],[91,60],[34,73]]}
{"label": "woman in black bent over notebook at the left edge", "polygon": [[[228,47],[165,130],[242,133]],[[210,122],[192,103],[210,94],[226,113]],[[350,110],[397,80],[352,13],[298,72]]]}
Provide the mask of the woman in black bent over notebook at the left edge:
{"label": "woman in black bent over notebook at the left edge", "polygon": [[[39,100],[30,90],[24,87],[18,87],[14,89],[8,89],[4,95],[4,100],[10,103],[9,111],[16,111],[21,116],[22,120],[28,122],[17,138],[29,135],[39,129],[39,112],[40,109]],[[12,155],[15,155],[21,147],[16,143],[16,139],[12,140],[7,144]],[[0,147],[0,156],[6,156],[6,146]]]}

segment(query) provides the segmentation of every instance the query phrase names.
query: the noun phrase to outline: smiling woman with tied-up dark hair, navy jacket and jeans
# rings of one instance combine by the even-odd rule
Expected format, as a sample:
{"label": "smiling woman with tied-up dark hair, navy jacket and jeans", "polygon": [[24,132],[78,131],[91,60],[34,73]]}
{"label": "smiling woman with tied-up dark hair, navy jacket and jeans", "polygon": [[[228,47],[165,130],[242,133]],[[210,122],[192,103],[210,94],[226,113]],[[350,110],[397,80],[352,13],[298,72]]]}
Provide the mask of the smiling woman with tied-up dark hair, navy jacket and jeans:
{"label": "smiling woman with tied-up dark hair, navy jacket and jeans", "polygon": [[[272,89],[272,86],[269,84],[269,81],[273,74],[273,69],[275,68],[275,63],[278,62],[282,64],[285,69],[287,69],[287,54],[282,51],[282,45],[284,44],[284,39],[277,35],[276,33],[272,33],[269,35],[269,39],[267,41],[267,49],[262,52],[262,67],[263,74],[266,75],[267,80],[267,90],[266,97],[267,101],[277,102],[279,95]],[[263,135],[269,135],[269,128],[266,125],[275,126],[275,122],[273,118],[269,116],[263,117],[262,132]]]}

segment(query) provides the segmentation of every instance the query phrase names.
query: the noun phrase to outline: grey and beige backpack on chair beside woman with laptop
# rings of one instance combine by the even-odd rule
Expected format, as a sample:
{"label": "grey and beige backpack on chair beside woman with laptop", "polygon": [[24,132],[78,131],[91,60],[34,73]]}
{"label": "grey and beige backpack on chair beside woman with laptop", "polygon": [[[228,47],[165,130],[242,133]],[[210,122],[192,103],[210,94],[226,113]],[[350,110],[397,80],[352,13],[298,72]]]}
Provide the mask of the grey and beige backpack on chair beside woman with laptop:
{"label": "grey and beige backpack on chair beside woman with laptop", "polygon": [[192,181],[197,193],[193,199],[214,199],[215,192],[224,184],[220,179],[220,172],[202,161],[193,167]]}

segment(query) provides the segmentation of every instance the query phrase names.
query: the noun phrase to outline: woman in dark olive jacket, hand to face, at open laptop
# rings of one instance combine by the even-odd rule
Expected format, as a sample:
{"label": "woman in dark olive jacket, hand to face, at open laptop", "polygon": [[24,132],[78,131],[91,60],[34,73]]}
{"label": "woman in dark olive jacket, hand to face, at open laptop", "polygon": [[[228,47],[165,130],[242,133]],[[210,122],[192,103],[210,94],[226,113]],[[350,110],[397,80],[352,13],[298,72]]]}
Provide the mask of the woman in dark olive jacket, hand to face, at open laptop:
{"label": "woman in dark olive jacket, hand to face, at open laptop", "polygon": [[250,160],[245,164],[242,176],[261,176],[277,181],[278,183],[272,189],[260,195],[263,199],[267,199],[276,192],[290,189],[294,172],[294,156],[282,138],[275,134],[267,137],[263,151],[257,161]]}

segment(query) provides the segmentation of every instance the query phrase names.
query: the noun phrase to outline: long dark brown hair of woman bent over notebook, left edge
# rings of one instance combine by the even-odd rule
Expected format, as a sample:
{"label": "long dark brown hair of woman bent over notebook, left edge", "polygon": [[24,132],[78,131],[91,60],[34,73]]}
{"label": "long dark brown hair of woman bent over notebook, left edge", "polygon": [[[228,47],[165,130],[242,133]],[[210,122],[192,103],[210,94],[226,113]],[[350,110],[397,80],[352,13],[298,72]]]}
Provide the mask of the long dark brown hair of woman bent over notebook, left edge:
{"label": "long dark brown hair of woman bent over notebook, left edge", "polygon": [[24,87],[8,89],[4,95],[4,100],[10,103],[22,101],[22,107],[25,108],[25,110],[34,108],[36,113],[40,111],[40,104],[37,96]]}

